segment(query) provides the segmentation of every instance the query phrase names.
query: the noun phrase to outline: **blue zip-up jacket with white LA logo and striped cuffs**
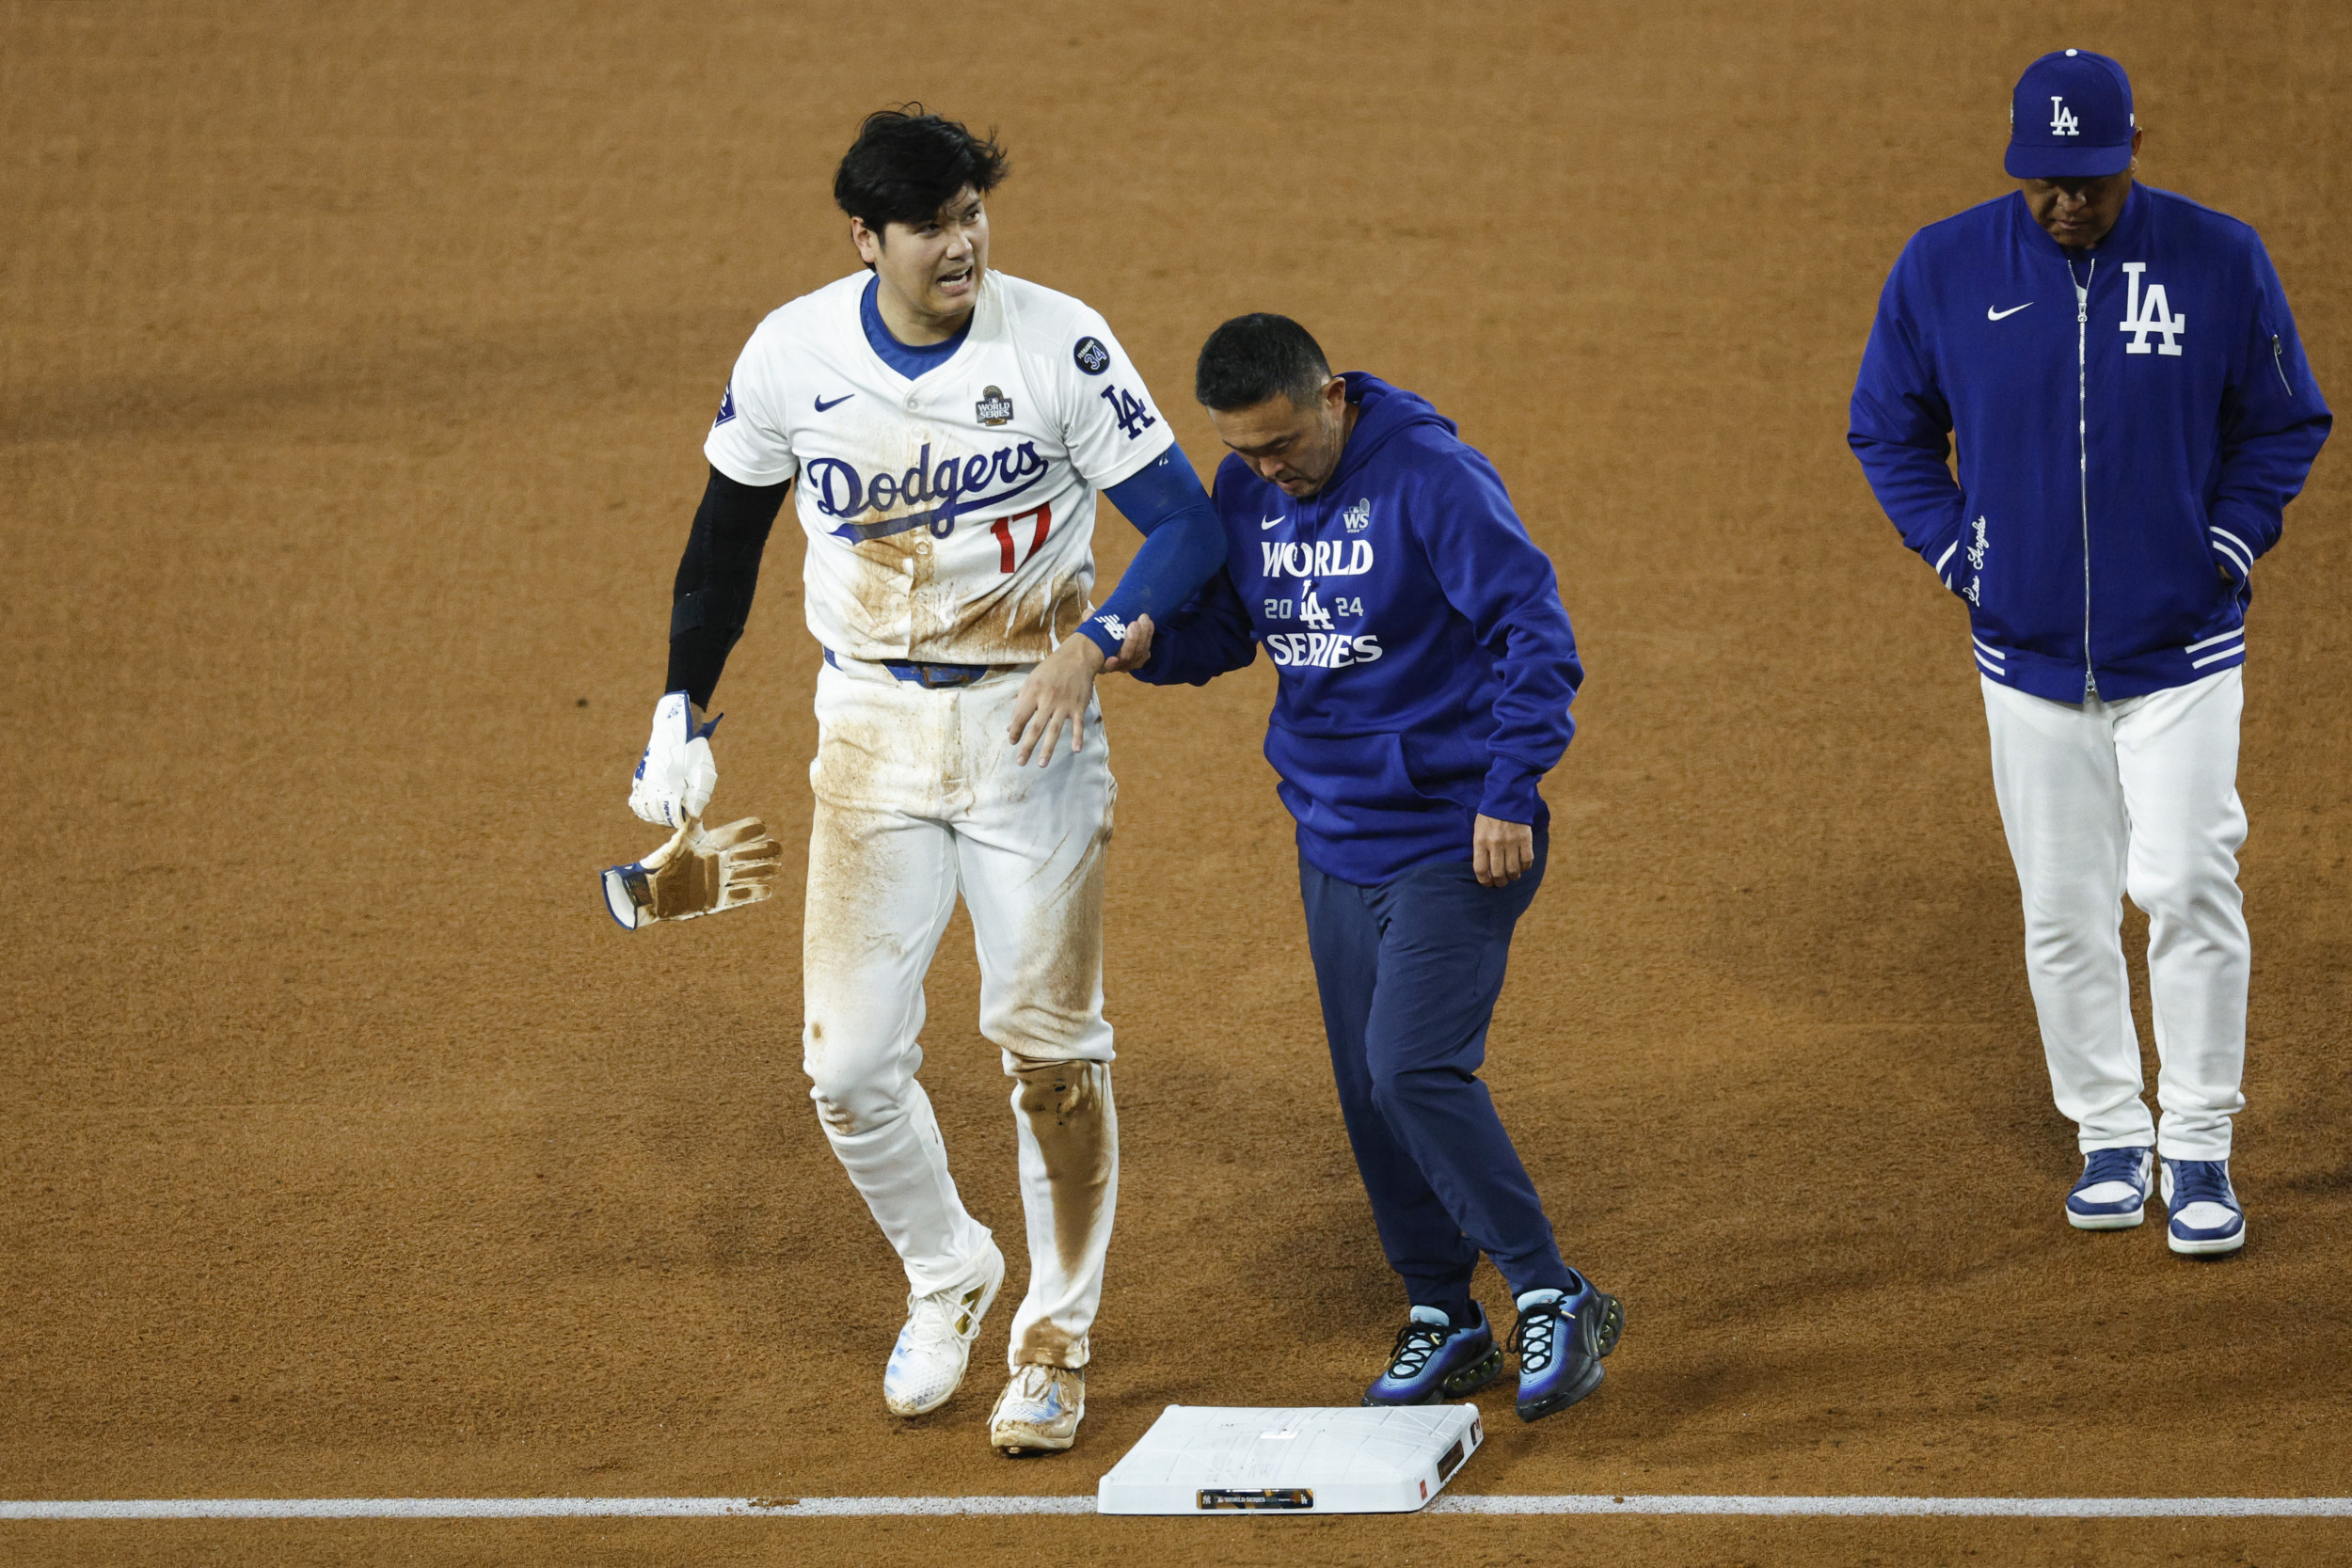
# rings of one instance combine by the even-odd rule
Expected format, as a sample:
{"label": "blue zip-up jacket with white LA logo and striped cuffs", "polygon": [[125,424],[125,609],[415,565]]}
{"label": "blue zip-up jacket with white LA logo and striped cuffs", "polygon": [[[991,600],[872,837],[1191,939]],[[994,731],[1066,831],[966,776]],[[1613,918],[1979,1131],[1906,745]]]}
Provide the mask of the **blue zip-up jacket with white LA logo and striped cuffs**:
{"label": "blue zip-up jacket with white LA logo and striped cuffs", "polygon": [[2244,663],[2253,562],[2328,423],[2263,240],[2133,186],[2072,261],[2016,193],[1912,235],[1846,440],[1969,602],[1978,668],[2079,703]]}

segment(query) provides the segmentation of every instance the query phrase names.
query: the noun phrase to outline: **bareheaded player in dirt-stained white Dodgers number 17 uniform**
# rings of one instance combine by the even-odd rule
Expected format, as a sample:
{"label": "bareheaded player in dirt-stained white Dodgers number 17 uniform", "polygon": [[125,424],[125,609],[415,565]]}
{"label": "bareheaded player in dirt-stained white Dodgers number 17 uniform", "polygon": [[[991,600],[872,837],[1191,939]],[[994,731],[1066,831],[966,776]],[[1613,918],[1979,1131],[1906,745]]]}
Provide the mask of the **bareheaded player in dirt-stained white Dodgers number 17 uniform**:
{"label": "bareheaded player in dirt-stained white Dodgers number 17 uniform", "polygon": [[[708,799],[715,719],[701,710],[793,487],[826,661],[802,1067],[906,1265],[884,1403],[922,1415],[948,1401],[1004,1281],[915,1077],[924,971],[962,893],[981,1032],[1014,1079],[1030,1255],[990,1443],[1049,1453],[1084,1415],[1120,1185],[1101,983],[1117,785],[1094,675],[1120,668],[1127,618],[1216,569],[1223,538],[1103,317],[988,268],[985,195],[1002,174],[995,141],[920,106],[861,129],[835,195],[866,268],[779,308],[736,360],[703,444],[713,473],[677,576],[670,696],[633,806],[680,820]],[[1096,494],[1112,487],[1150,534],[1122,581],[1143,599],[1124,616],[1117,597],[1103,614],[1089,597]]]}

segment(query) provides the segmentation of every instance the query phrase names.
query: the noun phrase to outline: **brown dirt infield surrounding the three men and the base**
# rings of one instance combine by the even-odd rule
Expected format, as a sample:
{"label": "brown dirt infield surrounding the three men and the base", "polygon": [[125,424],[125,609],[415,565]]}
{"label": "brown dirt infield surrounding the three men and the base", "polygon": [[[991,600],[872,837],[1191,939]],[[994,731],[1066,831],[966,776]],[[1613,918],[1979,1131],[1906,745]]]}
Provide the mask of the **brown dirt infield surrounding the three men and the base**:
{"label": "brown dirt infield surrounding the three men and the base", "polygon": [[[1371,1373],[1402,1298],[1263,663],[1105,682],[1127,1168],[1063,1460],[985,1448],[1002,1321],[882,1413],[903,1281],[804,1103],[797,882],[640,936],[595,900],[659,837],[626,771],[710,407],[854,266],[833,165],[910,96],[1002,129],[995,263],[1101,308],[1195,461],[1202,334],[1287,310],[1458,418],[1559,564],[1590,684],[1489,1081],[1628,1333],[1571,1413],[1489,1394],[1458,1490],[2345,1493],[2345,454],[2258,571],[2251,1244],[2185,1265],[2058,1220],[1966,632],[1844,449],[1886,266],[2002,188],[2009,82],[2070,42],[2352,397],[2352,12],[2058,9],[0,2],[0,797],[42,893],[0,957],[0,1497],[1087,1493],[1167,1403]],[[788,844],[795,567],[717,703],[717,809]],[[957,917],[924,1077],[1018,1237],[974,1011]],[[0,1523],[12,1563],[1138,1549],[2267,1566],[2352,1526]]]}

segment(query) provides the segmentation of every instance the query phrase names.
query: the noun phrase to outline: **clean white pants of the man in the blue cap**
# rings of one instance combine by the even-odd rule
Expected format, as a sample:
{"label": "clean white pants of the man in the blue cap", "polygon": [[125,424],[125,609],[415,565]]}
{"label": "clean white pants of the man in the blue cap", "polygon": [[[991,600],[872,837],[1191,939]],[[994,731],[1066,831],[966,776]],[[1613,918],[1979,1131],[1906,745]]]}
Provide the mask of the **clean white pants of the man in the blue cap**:
{"label": "clean white pants of the man in the blue cap", "polygon": [[[2227,1159],[2246,1107],[2246,938],[2237,849],[2239,670],[2103,703],[1985,679],[1992,790],[2025,896],[2025,973],[2058,1110],[2082,1152],[2154,1145]],[[2147,912],[2157,1105],[2124,969],[2124,893]]]}

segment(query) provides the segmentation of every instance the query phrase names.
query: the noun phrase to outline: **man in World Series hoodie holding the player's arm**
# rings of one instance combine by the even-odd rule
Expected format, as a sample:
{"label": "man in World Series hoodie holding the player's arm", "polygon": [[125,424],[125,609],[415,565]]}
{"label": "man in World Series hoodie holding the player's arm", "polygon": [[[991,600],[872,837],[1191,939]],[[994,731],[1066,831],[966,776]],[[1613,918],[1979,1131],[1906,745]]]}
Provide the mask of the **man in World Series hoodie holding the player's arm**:
{"label": "man in World Series hoodie holding the player's arm", "polygon": [[1282,675],[1265,757],[1298,818],[1298,884],[1341,1114],[1411,1314],[1364,1403],[1494,1382],[1470,1300],[1494,1258],[1517,1305],[1517,1406],[1602,1380],[1623,1309],[1559,1258],[1477,1067],[1510,933],[1543,882],[1583,679],[1552,562],[1494,463],[1414,393],[1334,376],[1279,315],[1225,322],[1195,390],[1232,447],[1216,473],[1225,571],[1122,663],[1155,684]]}

